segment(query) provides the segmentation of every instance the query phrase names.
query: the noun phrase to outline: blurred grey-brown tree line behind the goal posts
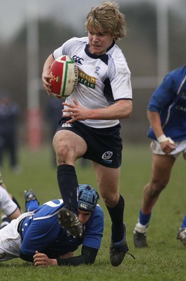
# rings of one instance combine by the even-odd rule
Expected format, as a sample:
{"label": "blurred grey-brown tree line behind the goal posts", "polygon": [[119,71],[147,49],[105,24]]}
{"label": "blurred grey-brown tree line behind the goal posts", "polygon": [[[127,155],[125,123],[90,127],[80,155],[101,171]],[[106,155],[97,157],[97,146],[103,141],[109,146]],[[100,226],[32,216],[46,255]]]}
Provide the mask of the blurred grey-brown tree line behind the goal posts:
{"label": "blurred grey-brown tree line behind the goal posts", "polygon": [[[127,4],[120,6],[120,10],[126,15],[127,37],[118,41],[117,44],[127,58],[133,77],[157,76],[157,18],[155,5],[141,2],[141,4]],[[81,22],[80,22],[81,24]],[[78,34],[66,23],[54,20],[39,20],[39,74],[43,70],[43,63],[52,51],[61,46],[64,41],[71,37],[85,36],[84,22],[82,32]],[[185,24],[186,18],[181,18],[175,11],[169,10],[169,70],[173,70],[185,64]],[[26,25],[15,34],[10,41],[0,42],[0,76],[1,88],[10,91],[13,99],[22,108],[20,121],[21,141],[25,142],[25,117],[27,115],[27,28]],[[40,78],[41,79],[41,78]],[[122,121],[122,136],[124,141],[143,142],[148,141],[148,120],[146,107],[148,100],[155,87],[147,89],[133,89],[134,111],[132,117]],[[33,93],[34,95],[34,93]],[[45,107],[48,95],[40,90],[40,105],[43,114],[43,139],[48,140],[48,123],[45,121]],[[46,128],[46,130],[45,130]]]}

